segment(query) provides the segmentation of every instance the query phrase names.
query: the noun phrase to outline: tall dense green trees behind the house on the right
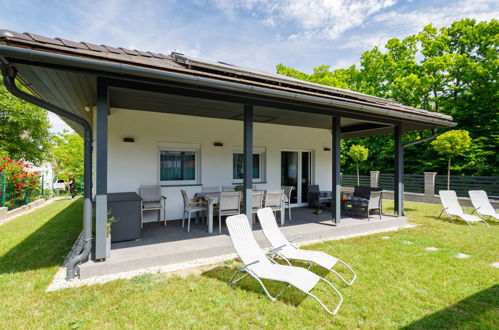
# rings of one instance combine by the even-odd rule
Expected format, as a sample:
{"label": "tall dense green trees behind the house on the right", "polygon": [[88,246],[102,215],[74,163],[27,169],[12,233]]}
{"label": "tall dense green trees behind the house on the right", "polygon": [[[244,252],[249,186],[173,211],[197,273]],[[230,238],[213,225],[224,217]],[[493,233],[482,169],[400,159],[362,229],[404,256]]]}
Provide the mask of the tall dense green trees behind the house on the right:
{"label": "tall dense green trees behind the house on the right", "polygon": [[[459,160],[461,175],[499,175],[499,21],[456,21],[437,29],[431,24],[402,40],[391,39],[385,50],[366,51],[360,67],[332,69],[319,66],[306,74],[282,64],[277,72],[297,79],[393,99],[405,105],[452,115],[458,129],[470,132],[473,146]],[[404,142],[429,133],[404,134]],[[345,141],[367,146],[372,154],[364,166],[382,172],[393,171],[393,138],[376,136]],[[444,172],[446,158],[429,144],[406,149],[405,170]],[[342,159],[344,173],[354,165]]]}

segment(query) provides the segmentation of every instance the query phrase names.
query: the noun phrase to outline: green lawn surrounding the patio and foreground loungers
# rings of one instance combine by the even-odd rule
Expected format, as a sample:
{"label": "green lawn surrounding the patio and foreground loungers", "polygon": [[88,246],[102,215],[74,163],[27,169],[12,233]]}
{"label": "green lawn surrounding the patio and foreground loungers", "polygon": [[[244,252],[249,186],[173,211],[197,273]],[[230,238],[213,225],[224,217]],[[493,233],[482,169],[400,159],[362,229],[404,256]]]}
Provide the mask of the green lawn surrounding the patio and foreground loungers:
{"label": "green lawn surrounding the patio and foreground loungers", "polygon": [[[228,287],[237,266],[231,262],[203,275],[143,275],[46,293],[81,228],[81,200],[57,201],[0,226],[1,327],[498,328],[499,269],[490,266],[499,261],[498,223],[469,229],[438,220],[440,209],[406,203],[410,221],[420,226],[310,246],[347,261],[359,275],[346,287],[313,269],[345,297],[332,317],[295,289],[272,303],[251,279]],[[274,293],[282,287],[268,284]],[[312,292],[335,303],[326,286]]]}

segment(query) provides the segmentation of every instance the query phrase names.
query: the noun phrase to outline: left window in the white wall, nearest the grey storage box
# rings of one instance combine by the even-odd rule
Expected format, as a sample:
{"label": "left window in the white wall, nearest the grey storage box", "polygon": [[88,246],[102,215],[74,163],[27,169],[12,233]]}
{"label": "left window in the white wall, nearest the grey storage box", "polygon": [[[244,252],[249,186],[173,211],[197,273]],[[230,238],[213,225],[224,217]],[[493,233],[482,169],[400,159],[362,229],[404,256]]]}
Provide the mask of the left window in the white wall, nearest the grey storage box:
{"label": "left window in the white wall, nearest the grey storage box", "polygon": [[167,183],[197,182],[197,152],[160,151],[159,180]]}

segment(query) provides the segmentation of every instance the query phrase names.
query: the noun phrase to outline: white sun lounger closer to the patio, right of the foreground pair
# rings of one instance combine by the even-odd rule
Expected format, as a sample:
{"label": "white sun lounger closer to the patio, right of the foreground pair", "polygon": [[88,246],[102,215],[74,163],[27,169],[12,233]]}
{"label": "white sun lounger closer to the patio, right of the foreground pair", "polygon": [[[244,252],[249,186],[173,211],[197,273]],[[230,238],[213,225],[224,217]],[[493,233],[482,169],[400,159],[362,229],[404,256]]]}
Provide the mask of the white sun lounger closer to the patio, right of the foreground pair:
{"label": "white sun lounger closer to the patio, right of the foreground pair", "polygon": [[[336,274],[343,282],[345,282],[348,285],[352,285],[353,282],[355,282],[357,274],[352,268],[350,268],[350,266],[348,266],[345,262],[341,261],[340,259],[335,258],[322,251],[302,250],[291,244],[291,242],[286,239],[286,237],[277,227],[277,222],[274,217],[274,214],[272,213],[272,210],[268,208],[260,209],[258,210],[257,214],[258,214],[258,220],[260,221],[260,225],[262,226],[263,229],[263,233],[265,234],[265,237],[267,237],[267,240],[270,242],[272,247],[274,248],[282,247],[281,249],[275,252],[276,255],[285,260],[291,259],[291,260],[308,261],[309,269],[312,266],[312,262],[316,263],[317,265]],[[296,240],[299,237],[300,236],[295,237],[291,241]],[[333,267],[338,262],[343,264],[353,273],[352,280],[350,281],[345,280],[340,274],[338,274],[338,272],[333,270]]]}

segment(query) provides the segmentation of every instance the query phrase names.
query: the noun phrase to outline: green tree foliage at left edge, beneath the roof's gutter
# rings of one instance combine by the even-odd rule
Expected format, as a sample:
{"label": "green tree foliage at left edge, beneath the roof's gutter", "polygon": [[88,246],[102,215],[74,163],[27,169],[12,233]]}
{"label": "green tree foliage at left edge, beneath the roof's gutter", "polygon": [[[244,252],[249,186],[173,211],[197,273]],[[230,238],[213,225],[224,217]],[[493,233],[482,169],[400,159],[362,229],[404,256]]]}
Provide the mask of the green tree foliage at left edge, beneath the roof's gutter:
{"label": "green tree foliage at left edge, beneath the roof's gutter", "polygon": [[40,164],[50,149],[47,111],[10,94],[0,76],[0,151]]}

